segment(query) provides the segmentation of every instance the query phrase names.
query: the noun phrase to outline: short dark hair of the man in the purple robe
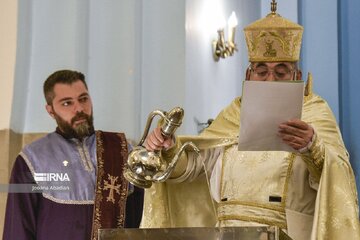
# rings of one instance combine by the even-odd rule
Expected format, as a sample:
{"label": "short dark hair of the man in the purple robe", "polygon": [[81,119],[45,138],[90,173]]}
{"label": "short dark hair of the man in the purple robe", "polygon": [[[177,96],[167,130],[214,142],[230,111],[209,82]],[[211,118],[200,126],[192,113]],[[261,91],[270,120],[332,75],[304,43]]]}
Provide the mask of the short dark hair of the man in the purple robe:
{"label": "short dark hair of the man in the purple robe", "polygon": [[86,89],[88,89],[87,84],[85,82],[85,75],[81,72],[65,69],[52,73],[44,82],[43,89],[44,89],[44,96],[46,99],[46,103],[49,105],[52,104],[52,101],[55,98],[54,86],[57,83],[70,85],[79,80],[82,81]]}

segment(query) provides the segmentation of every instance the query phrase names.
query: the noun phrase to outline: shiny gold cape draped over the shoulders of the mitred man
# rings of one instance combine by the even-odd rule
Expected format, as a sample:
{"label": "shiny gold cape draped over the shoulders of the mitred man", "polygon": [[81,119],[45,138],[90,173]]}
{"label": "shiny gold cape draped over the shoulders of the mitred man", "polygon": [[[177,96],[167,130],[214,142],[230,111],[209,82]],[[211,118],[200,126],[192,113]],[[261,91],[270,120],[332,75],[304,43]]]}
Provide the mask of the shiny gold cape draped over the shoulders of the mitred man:
{"label": "shiny gold cape draped over the shoulders of the mitred man", "polygon": [[[319,188],[317,190],[317,201],[314,206],[314,222],[312,228],[312,239],[347,239],[346,236],[351,236],[353,239],[360,239],[359,230],[359,209],[357,201],[357,191],[355,185],[355,177],[349,163],[348,153],[344,147],[339,129],[328,104],[321,97],[312,93],[311,81],[308,79],[308,94],[303,105],[302,120],[311,124],[319,139],[322,141],[315,141],[316,148],[318,146],[319,155],[325,157],[323,161],[323,168],[321,178],[319,179]],[[234,136],[239,132],[239,117],[240,117],[240,98],[236,98],[227,108],[225,108],[214,122],[201,134],[200,137],[193,136],[179,136],[177,141],[193,141],[201,149],[208,149],[214,146],[219,146],[222,139],[228,139],[229,145],[234,144]],[[209,141],[210,140],[210,141]],[[226,145],[226,144],[225,144]],[[222,145],[222,146],[225,146]],[[324,153],[324,154],[323,154]],[[184,154],[185,155],[185,154]],[[293,161],[292,168],[305,167],[310,171],[310,176],[314,177],[312,170],[306,163],[296,157]],[[314,159],[321,163],[321,158]],[[301,176],[300,176],[301,177]],[[289,183],[287,202],[294,200],[296,205],[302,204],[301,199],[290,195],[296,189],[301,188],[306,184],[309,190],[314,193],[314,186],[309,183],[312,179],[305,179],[303,183],[293,182],[296,178],[296,172],[291,173],[291,180]],[[316,183],[316,182],[315,182]],[[190,185],[189,185],[190,184]],[[191,185],[191,183],[179,184],[157,184],[153,188],[148,189],[145,193],[144,217],[142,225],[145,227],[181,227],[197,226],[211,227],[213,218],[210,218],[209,210],[212,210],[211,201],[199,199],[199,192],[207,189],[206,181],[203,184]],[[316,184],[315,184],[316,185]],[[190,187],[191,186],[191,187]],[[191,189],[191,191],[188,191]],[[342,190],[342,191],[339,191]],[[186,193],[186,194],[184,194]],[[293,198],[295,197],[295,198]],[[309,196],[312,198],[311,196]],[[188,211],[184,202],[191,202],[192,214],[189,218]],[[345,203],[345,204],[344,204]],[[314,203],[315,204],[315,203]],[[226,205],[223,205],[228,207]],[[294,206],[288,206],[290,210]],[[208,210],[208,211],[207,211]],[[170,213],[177,214],[171,215]],[[302,212],[302,211],[300,211]],[[306,213],[305,214],[309,214]],[[310,213],[311,214],[311,213]],[[236,214],[242,216],[240,214]],[[206,216],[206,217],[204,217]],[[252,216],[251,214],[249,215]],[[230,216],[229,218],[231,218]],[[289,216],[286,216],[289,217]],[[225,219],[225,218],[222,218]],[[251,221],[251,219],[245,219]],[[292,221],[289,217],[290,222]],[[292,222],[294,223],[294,222]],[[231,224],[236,224],[236,221],[231,221]],[[272,224],[272,223],[268,223]]]}

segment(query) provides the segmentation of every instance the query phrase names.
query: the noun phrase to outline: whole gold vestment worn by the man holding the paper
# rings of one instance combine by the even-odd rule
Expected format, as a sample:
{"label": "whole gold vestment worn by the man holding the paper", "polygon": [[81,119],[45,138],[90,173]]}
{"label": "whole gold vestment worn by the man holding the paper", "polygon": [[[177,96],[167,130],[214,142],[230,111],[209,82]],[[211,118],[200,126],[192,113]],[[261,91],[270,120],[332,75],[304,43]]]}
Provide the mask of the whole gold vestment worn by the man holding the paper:
{"label": "whole gold vestment worn by the man holding the paper", "polygon": [[[154,184],[145,193],[142,227],[213,227],[216,223],[220,226],[243,226],[246,222],[255,222],[277,225],[288,230],[286,218],[295,210],[313,216],[312,230],[308,234],[311,234],[311,239],[360,239],[355,178],[336,120],[328,104],[311,92],[305,97],[302,120],[310,124],[316,133],[310,151],[305,154],[235,151],[234,146],[237,144],[239,133],[240,104],[241,99],[236,98],[202,134],[179,136],[176,140],[177,147],[163,151],[165,159],[172,158],[178,146],[186,141],[193,141],[201,150],[223,148],[222,201],[212,201],[205,175],[192,182]],[[232,157],[226,157],[229,155]],[[184,157],[186,154],[182,154],[182,158]],[[276,159],[273,165],[269,159]],[[267,161],[267,169],[273,167],[282,170],[275,171],[275,175],[264,174],[269,183],[266,186],[258,187],[266,181],[258,183],[256,180],[249,188],[241,184],[248,184],[242,181],[251,181],[254,172],[249,169],[237,169],[237,164],[242,160],[245,165],[249,165],[249,169],[256,170],[261,162]],[[233,178],[229,175],[236,176],[237,171],[239,175],[246,175],[232,183]],[[266,173],[266,169],[262,173]],[[274,179],[274,176],[279,176],[279,179]],[[257,175],[256,179],[261,179],[261,176]],[[302,183],[297,182],[299,179],[302,179]],[[312,181],[313,185],[318,186],[317,191],[306,186],[307,181]],[[278,186],[274,187],[274,184]],[[303,190],[300,185],[308,189]],[[301,192],[308,202],[300,205],[296,203],[303,200],[297,195],[299,190],[295,188],[302,189]],[[237,192],[236,189],[240,190]],[[256,189],[267,191],[268,195],[275,193],[271,197],[278,201],[269,203],[268,195],[256,194]],[[238,194],[239,192],[245,195]]]}

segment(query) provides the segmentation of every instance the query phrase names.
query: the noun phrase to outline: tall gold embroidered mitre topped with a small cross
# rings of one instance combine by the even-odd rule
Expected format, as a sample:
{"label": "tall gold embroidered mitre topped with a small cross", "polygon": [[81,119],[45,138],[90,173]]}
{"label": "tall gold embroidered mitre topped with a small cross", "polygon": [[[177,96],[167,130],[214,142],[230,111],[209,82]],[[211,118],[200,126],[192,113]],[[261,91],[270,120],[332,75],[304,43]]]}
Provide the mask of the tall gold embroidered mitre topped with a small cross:
{"label": "tall gold embroidered mitre topped with a small cross", "polygon": [[296,62],[299,60],[303,27],[271,13],[244,28],[250,62]]}

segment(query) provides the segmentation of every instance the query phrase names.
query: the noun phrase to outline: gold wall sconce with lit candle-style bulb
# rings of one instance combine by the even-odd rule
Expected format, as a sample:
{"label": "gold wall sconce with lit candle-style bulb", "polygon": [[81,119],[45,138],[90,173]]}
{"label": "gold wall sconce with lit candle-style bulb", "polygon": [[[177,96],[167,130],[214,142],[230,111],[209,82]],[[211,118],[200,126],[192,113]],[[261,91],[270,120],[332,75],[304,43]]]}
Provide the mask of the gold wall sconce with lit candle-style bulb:
{"label": "gold wall sconce with lit candle-style bulb", "polygon": [[215,61],[220,58],[232,56],[237,47],[235,44],[235,29],[237,26],[237,18],[235,12],[232,12],[228,19],[228,41],[225,41],[224,28],[218,30],[218,39],[213,41],[213,56]]}

